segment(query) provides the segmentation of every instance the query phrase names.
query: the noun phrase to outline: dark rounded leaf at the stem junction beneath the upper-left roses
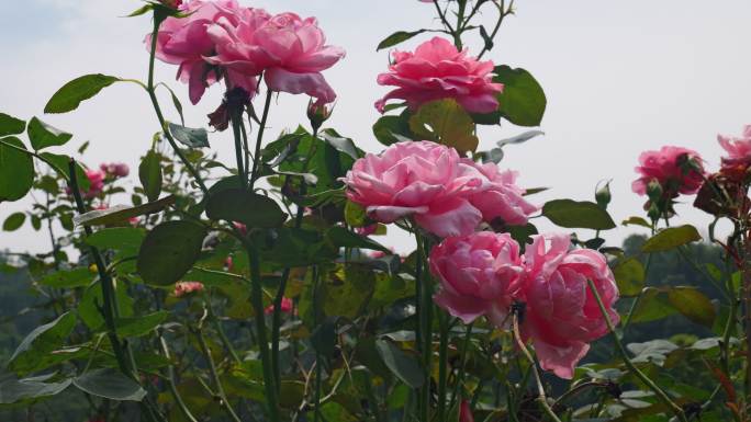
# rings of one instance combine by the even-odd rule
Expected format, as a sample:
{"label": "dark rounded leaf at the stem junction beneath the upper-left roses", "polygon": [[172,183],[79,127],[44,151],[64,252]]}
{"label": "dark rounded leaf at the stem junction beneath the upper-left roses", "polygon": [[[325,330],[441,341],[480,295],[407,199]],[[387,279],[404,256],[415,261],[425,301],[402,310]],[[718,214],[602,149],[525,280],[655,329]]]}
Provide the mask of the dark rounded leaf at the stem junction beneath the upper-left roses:
{"label": "dark rounded leaf at the stem junction beneath the upper-left roses", "polygon": [[213,220],[243,223],[248,228],[280,227],[287,219],[287,214],[273,199],[242,189],[211,194],[206,215]]}

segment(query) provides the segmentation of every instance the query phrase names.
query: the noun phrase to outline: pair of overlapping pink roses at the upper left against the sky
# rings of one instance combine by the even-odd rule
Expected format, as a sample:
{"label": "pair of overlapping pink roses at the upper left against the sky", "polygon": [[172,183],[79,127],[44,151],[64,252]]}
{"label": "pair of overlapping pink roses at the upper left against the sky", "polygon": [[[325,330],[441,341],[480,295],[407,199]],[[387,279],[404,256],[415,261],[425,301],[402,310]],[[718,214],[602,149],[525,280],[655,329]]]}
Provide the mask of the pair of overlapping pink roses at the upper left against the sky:
{"label": "pair of overlapping pink roses at the upper left against the sky", "polygon": [[157,58],[179,66],[193,104],[222,79],[227,91],[242,88],[253,96],[261,75],[271,91],[305,93],[320,104],[336,98],[321,72],[345,52],[326,45],[315,18],[272,15],[236,0],[192,0],[178,10],[186,16],[166,19],[156,41],[147,36],[146,44],[156,45]]}

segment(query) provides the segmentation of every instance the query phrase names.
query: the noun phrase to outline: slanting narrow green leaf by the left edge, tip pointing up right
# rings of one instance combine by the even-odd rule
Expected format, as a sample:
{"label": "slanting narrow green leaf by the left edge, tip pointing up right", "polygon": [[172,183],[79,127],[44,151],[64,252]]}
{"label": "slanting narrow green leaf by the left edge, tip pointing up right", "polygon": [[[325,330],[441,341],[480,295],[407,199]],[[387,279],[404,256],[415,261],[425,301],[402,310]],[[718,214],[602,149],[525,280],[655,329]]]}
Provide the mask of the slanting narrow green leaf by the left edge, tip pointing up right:
{"label": "slanting narrow green leaf by the left edge, tip pointing up right", "polygon": [[45,356],[59,347],[76,326],[76,315],[65,312],[54,321],[35,328],[19,344],[8,367],[16,373],[33,372]]}

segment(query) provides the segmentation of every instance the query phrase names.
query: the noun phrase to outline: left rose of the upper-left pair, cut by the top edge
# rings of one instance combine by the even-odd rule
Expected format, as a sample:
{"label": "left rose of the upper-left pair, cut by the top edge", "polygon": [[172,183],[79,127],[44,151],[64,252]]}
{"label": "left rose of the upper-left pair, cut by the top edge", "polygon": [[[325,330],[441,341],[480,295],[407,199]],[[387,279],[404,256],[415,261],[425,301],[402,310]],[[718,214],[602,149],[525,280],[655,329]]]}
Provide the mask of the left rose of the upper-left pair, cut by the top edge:
{"label": "left rose of the upper-left pair, cut by the top edge", "polygon": [[[186,18],[167,18],[159,26],[156,44],[156,57],[170,65],[178,65],[177,77],[188,83],[189,98],[197,104],[206,87],[226,76],[228,88],[243,88],[249,94],[256,91],[256,78],[232,69],[218,69],[204,60],[212,55],[214,42],[206,33],[208,28],[220,19],[225,25],[239,22],[240,7],[236,0],[192,0],[179,4],[178,10]],[[152,48],[152,35],[145,39],[147,48]],[[226,73],[226,75],[224,75]]]}

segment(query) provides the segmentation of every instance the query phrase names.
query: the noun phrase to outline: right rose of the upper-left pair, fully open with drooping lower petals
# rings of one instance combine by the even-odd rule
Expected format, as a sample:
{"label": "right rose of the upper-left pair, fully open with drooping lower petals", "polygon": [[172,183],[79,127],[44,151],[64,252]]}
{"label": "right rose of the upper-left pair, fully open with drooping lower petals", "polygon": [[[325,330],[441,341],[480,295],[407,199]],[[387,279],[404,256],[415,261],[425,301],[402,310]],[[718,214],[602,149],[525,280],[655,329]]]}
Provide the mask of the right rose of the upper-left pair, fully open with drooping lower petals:
{"label": "right rose of the upper-left pair, fully open with drooping lower petals", "polygon": [[247,76],[262,72],[271,91],[305,93],[318,104],[336,99],[321,72],[339,61],[345,52],[326,45],[315,18],[246,9],[237,25],[231,19],[220,19],[209,35],[215,44],[215,54],[205,58],[209,62]]}

